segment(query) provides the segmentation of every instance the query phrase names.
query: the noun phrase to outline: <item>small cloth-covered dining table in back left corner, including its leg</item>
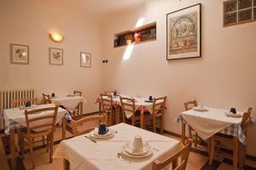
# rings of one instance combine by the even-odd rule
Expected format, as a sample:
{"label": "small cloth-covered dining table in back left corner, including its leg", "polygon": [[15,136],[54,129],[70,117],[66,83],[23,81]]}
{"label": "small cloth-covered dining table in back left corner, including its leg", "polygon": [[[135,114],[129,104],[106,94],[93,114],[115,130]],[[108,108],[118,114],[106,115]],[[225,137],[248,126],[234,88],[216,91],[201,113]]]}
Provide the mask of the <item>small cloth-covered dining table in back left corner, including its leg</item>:
{"label": "small cloth-covered dining table in back left corner, including its leg", "polygon": [[83,96],[69,94],[62,97],[51,97],[51,101],[55,105],[63,106],[70,113],[73,113],[77,108],[79,108],[79,118],[83,116],[83,103],[86,102]]}

